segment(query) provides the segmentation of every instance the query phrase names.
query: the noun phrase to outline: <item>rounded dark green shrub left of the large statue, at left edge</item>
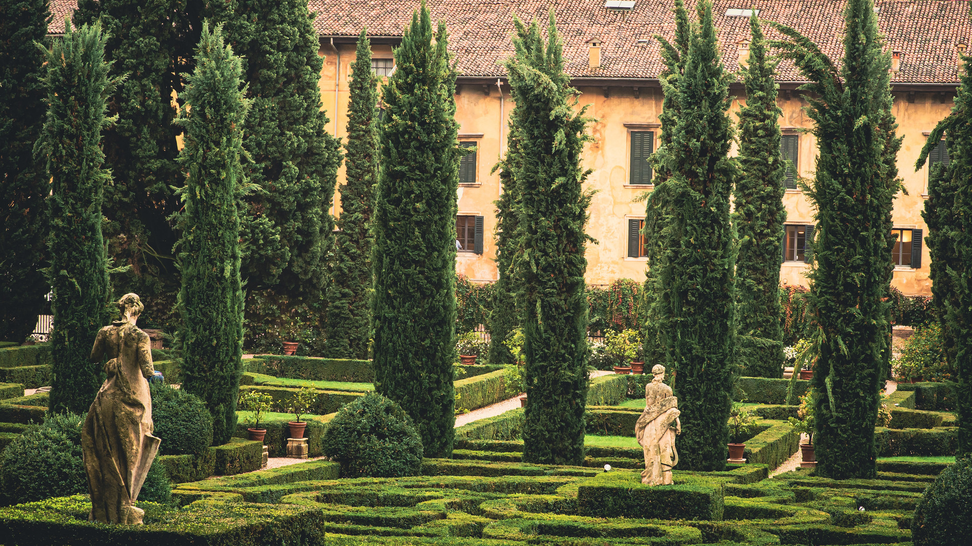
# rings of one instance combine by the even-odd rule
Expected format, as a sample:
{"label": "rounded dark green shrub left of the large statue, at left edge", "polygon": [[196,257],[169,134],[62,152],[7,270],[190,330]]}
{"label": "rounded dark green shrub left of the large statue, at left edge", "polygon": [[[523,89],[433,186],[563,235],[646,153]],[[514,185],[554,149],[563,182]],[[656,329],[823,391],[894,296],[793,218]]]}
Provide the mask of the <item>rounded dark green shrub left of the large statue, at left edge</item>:
{"label": "rounded dark green shrub left of the large statue, at left edge", "polygon": [[51,415],[29,427],[0,454],[0,484],[8,501],[29,502],[87,493],[81,460],[83,415]]}

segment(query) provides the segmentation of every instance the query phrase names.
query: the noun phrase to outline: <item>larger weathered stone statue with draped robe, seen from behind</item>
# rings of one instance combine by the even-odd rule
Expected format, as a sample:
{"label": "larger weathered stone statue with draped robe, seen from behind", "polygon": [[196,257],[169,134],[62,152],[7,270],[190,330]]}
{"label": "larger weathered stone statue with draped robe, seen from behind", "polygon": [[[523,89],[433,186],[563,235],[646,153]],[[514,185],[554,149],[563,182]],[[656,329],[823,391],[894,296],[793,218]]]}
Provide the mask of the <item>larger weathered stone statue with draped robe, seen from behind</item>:
{"label": "larger weathered stone statue with draped robe, seen from behind", "polygon": [[145,306],[133,293],[121,296],[118,306],[121,321],[101,328],[91,348],[91,361],[108,358],[108,379],[87,410],[81,436],[91,493],[87,519],[138,525],[145,512],[135,500],[161,441],[152,435],[148,378],[155,370],[149,335],[135,325]]}

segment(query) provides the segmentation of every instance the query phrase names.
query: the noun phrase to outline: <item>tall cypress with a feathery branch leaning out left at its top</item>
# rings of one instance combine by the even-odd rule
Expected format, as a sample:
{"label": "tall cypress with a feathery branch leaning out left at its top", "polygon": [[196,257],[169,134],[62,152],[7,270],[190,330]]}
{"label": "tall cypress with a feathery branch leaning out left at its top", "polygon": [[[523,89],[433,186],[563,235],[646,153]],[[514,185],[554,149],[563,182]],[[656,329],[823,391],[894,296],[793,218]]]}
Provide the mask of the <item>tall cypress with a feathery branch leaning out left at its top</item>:
{"label": "tall cypress with a feathery branch leaning out left at its top", "polygon": [[[808,191],[816,207],[816,266],[808,304],[816,321],[813,385],[816,472],[836,479],[873,478],[874,423],[887,349],[891,266],[888,214],[900,188],[885,148],[889,56],[882,53],[871,0],[845,9],[844,58],[833,62],[795,30],[774,42],[811,83],[808,115],[819,154]],[[894,138],[890,137],[890,141]]]}

